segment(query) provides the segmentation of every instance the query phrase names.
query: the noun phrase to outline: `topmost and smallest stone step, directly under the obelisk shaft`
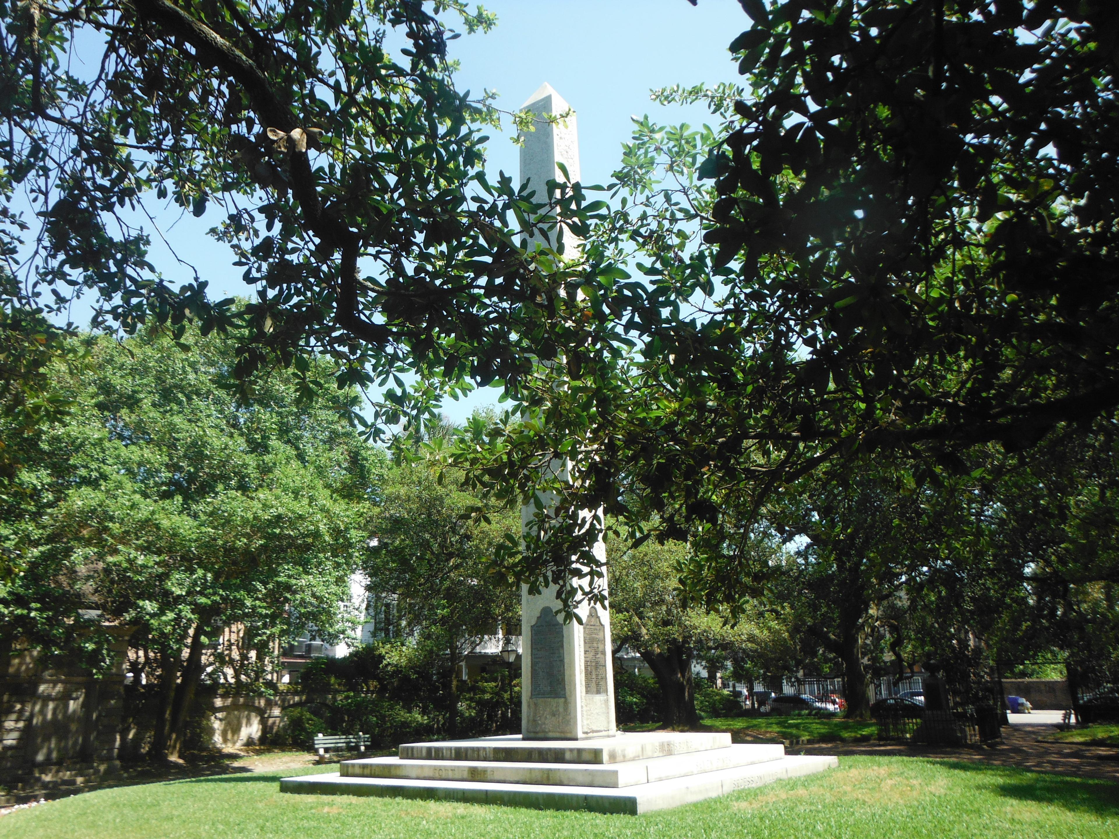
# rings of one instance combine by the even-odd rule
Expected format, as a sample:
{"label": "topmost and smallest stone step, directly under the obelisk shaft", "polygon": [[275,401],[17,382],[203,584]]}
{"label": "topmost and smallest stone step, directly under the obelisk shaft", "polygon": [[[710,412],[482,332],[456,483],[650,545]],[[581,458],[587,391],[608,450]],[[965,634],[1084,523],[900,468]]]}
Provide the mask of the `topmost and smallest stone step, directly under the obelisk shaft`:
{"label": "topmost and smallest stone step, directly under the obelisk shaft", "polygon": [[642,732],[599,739],[530,739],[519,734],[438,743],[405,743],[408,761],[497,761],[500,763],[624,763],[689,752],[730,748],[725,732]]}

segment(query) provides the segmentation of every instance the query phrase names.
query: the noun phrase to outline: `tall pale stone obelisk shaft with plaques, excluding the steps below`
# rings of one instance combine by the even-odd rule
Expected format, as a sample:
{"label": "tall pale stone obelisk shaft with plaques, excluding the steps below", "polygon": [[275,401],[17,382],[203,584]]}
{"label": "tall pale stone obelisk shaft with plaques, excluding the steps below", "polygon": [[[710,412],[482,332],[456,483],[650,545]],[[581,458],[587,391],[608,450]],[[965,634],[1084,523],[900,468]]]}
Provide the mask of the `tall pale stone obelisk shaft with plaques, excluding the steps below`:
{"label": "tall pale stone obelisk shaft with plaques, excluding the steps below", "polygon": [[[580,178],[579,133],[575,113],[547,83],[540,85],[521,106],[538,115],[535,131],[525,132],[520,147],[520,182],[536,191],[534,201],[551,198],[548,180],[564,181],[557,163],[563,163],[572,181]],[[563,117],[552,121],[548,116]],[[555,235],[551,235],[555,245]],[[543,242],[543,237],[535,236]],[[574,255],[577,243],[565,242],[565,256]],[[551,469],[568,473],[566,464]],[[551,499],[547,499],[551,500]],[[545,503],[545,512],[549,508]],[[528,527],[536,508],[521,511]],[[585,515],[585,513],[584,513]],[[594,555],[606,560],[606,546],[600,538]],[[602,588],[605,592],[605,576]],[[552,585],[539,594],[521,587],[521,733],[525,739],[585,739],[612,737],[614,726],[613,654],[610,640],[610,613],[601,606],[576,607],[579,621],[565,620],[563,604]]]}

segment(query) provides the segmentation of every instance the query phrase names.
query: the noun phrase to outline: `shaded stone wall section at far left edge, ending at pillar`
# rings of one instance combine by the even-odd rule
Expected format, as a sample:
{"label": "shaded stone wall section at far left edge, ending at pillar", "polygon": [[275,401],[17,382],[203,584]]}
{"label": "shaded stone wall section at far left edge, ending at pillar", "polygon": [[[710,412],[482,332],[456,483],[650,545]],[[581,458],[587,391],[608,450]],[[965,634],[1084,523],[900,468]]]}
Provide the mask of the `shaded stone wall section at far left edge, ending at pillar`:
{"label": "shaded stone wall section at far left edge, ending at pillar", "polygon": [[120,770],[128,630],[114,632],[116,667],[94,679],[45,670],[29,650],[0,659],[0,803],[18,803]]}

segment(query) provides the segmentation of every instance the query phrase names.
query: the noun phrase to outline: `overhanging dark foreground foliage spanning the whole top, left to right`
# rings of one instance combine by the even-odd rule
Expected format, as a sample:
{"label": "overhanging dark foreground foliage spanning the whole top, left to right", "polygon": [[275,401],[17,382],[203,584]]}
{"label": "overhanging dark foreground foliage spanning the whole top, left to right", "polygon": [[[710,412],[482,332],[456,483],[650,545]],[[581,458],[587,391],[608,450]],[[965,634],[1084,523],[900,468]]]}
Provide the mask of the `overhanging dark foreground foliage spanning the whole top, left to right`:
{"label": "overhanging dark foreground foliage spanning the whole top, left to right", "polygon": [[[713,125],[639,120],[611,206],[582,185],[528,196],[487,180],[495,112],[455,89],[446,20],[492,18],[458,0],[2,7],[4,340],[26,350],[9,369],[28,383],[4,392],[6,416],[39,404],[51,345],[35,338],[50,313],[36,305],[60,311],[85,289],[125,331],[168,324],[182,341],[192,321],[231,336],[228,383],[246,398],[276,365],[319,393],[321,356],[344,389],[391,384],[374,424],[500,380],[515,411],[472,421],[452,460],[498,501],[549,499],[539,538],[505,554],[530,584],[575,565],[589,586],[564,591],[601,594],[590,548],[617,521],[634,541],[690,540],[688,596],[743,607],[764,574],[740,541],[824,486],[800,481],[881,460],[959,524],[930,566],[952,573],[906,593],[927,596],[944,649],[962,625],[946,581],[987,602],[991,578],[1013,577],[962,562],[993,539],[1019,571],[1061,581],[1036,588],[1083,619],[1061,625],[1100,625],[1089,613],[1110,607],[1110,558],[1071,547],[1083,539],[1061,516],[1110,520],[1110,479],[1085,464],[1119,405],[1119,11],[742,7],[730,50],[744,84],[657,92],[706,103]],[[87,73],[79,50],[97,56]],[[152,199],[213,218],[257,295],[171,289],[137,221]],[[526,235],[540,232],[548,246]],[[411,397],[393,379],[405,369],[420,374]],[[1061,451],[1087,459],[1079,473],[1045,459]],[[556,462],[573,468],[542,469]],[[999,507],[1012,483],[984,483],[996,474],[1031,474],[1021,497],[1061,515],[1034,510],[1036,530],[1015,530]]]}

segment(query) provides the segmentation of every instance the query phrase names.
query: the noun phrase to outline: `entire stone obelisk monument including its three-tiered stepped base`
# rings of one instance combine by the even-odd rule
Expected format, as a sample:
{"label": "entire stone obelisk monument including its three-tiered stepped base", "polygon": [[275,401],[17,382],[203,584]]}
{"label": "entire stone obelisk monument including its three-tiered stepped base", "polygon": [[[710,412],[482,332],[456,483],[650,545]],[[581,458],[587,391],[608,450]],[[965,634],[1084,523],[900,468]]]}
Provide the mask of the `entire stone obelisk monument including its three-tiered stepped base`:
{"label": "entire stone obelisk monument including its three-tiered stepped base", "polygon": [[[570,109],[544,85],[525,109],[540,116]],[[560,124],[536,122],[520,151],[521,182],[544,204],[547,181],[562,180],[556,163],[579,178],[575,115]],[[543,245],[555,245],[534,236]],[[577,249],[565,242],[565,257]],[[553,461],[561,478],[579,478],[579,464]],[[555,498],[544,497],[545,513]],[[521,511],[533,524],[535,507]],[[589,516],[583,511],[583,516]],[[605,546],[594,546],[605,563]],[[605,576],[602,579],[605,586]],[[583,604],[565,620],[554,586],[521,590],[521,735],[403,743],[395,756],[344,761],[337,773],[285,777],[281,792],[391,795],[554,810],[643,813],[725,795],[786,777],[821,772],[835,757],[786,755],[779,743],[735,745],[725,732],[643,732],[614,728],[610,613]]]}

